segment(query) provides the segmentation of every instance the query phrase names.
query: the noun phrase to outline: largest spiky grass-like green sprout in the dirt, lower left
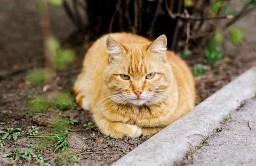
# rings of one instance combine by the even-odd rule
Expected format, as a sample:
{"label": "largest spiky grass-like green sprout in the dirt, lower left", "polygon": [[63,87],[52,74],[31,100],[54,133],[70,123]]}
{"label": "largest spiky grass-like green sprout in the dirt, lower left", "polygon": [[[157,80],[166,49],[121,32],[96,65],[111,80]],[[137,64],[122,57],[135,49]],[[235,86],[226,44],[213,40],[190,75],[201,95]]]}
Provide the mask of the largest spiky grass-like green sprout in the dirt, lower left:
{"label": "largest spiky grass-like green sprout in the dirt, lower left", "polygon": [[57,132],[58,133],[56,133],[56,134],[52,134],[52,135],[54,135],[54,137],[49,137],[48,139],[50,139],[50,140],[57,140],[58,142],[57,142],[57,144],[56,144],[56,146],[59,144],[59,146],[57,146],[56,148],[55,148],[55,150],[54,150],[54,153],[58,150],[58,149],[60,149],[60,148],[62,148],[62,152],[65,150],[65,148],[66,148],[66,146],[68,146],[68,142],[66,142],[65,141],[65,138],[67,138],[67,134],[68,134],[68,132],[67,132],[67,130],[65,130],[65,135],[61,132],[61,130],[60,129],[58,129],[57,127],[55,127],[55,126],[52,126],[52,125],[48,125],[47,127],[53,127],[53,128],[55,128],[56,130],[57,130]]}

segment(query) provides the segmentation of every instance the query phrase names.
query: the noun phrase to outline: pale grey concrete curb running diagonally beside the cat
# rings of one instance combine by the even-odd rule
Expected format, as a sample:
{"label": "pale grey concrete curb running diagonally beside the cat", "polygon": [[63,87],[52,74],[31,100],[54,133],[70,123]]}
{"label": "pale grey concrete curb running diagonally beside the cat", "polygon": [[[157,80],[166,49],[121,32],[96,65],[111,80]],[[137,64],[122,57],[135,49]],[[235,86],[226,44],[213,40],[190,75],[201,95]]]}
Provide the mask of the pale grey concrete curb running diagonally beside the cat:
{"label": "pale grey concrete curb running diagonally beside the cat", "polygon": [[216,129],[223,117],[255,93],[256,68],[251,68],[112,166],[173,165],[186,154],[190,144],[202,142],[202,135]]}

